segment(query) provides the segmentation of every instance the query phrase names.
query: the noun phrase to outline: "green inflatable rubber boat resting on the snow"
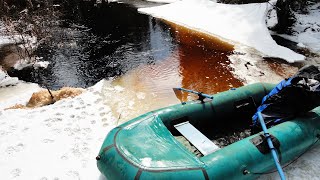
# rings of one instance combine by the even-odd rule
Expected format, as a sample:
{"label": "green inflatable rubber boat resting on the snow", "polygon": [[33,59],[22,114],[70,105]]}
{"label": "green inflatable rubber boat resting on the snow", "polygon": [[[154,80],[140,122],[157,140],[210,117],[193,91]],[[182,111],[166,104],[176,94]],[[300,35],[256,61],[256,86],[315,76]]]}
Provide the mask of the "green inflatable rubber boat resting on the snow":
{"label": "green inflatable rubber boat resting on the snow", "polygon": [[[97,156],[107,179],[255,179],[275,169],[251,117],[273,84],[258,83],[143,114],[109,132]],[[282,165],[320,134],[320,108],[268,129]],[[182,139],[182,140],[181,140]]]}

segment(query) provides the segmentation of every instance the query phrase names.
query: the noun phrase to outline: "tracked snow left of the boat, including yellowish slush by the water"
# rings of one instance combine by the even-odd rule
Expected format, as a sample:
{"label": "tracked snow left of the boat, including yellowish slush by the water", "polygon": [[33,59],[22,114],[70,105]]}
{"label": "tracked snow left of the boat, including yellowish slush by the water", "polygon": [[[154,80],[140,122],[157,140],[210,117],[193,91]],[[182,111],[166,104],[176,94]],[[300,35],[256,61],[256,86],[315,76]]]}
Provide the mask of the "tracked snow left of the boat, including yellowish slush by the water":
{"label": "tracked snow left of the boat, including yellowish slush by the water", "polygon": [[103,179],[95,157],[108,131],[163,104],[151,101],[150,93],[101,80],[73,99],[3,110],[16,100],[26,103],[20,94],[24,96],[30,84],[20,85],[0,88],[1,179]]}

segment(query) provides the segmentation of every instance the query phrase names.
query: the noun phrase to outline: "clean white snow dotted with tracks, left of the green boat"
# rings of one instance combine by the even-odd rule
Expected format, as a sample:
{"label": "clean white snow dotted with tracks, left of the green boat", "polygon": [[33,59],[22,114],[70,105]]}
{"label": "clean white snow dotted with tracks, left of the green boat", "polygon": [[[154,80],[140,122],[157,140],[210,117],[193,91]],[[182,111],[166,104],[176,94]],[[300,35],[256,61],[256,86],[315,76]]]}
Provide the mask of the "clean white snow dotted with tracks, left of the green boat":
{"label": "clean white snow dotted with tracks, left of the green boat", "polygon": [[1,179],[98,179],[95,157],[115,122],[103,83],[50,106],[0,111]]}

